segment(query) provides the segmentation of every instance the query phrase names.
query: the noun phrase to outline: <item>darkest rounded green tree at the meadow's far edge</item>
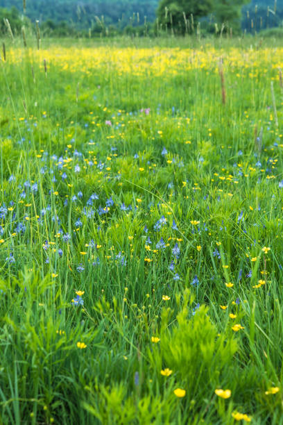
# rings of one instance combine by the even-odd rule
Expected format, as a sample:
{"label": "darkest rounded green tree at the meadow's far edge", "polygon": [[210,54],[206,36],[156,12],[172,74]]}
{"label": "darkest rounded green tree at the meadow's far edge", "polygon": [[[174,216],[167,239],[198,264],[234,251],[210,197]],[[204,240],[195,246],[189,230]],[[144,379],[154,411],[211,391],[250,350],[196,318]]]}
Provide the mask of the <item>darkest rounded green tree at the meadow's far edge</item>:
{"label": "darkest rounded green tree at the meadow's far edge", "polygon": [[198,18],[209,15],[213,9],[213,0],[161,0],[157,17],[163,28],[185,33],[194,31]]}

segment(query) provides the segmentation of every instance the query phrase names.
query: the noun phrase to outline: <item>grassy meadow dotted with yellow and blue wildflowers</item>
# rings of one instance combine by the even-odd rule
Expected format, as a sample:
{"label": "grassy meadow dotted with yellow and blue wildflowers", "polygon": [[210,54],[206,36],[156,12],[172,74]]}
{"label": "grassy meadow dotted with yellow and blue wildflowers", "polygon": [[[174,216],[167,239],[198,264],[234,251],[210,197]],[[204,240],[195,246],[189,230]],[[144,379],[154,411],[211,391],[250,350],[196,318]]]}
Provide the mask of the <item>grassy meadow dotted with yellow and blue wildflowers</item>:
{"label": "grassy meadow dotted with yellow and blue wildflowers", "polygon": [[283,424],[282,43],[5,56],[0,423]]}

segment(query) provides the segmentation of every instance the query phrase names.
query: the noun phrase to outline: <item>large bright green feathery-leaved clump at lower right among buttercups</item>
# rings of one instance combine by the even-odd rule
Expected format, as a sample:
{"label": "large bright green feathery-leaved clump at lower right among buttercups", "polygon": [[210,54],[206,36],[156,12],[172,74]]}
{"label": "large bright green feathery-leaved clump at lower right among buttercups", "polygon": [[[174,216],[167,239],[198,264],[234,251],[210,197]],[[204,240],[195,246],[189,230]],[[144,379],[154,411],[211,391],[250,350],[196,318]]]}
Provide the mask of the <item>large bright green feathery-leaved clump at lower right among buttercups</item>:
{"label": "large bright green feathery-leaved clump at lower right among buttercups", "polygon": [[[180,297],[178,301],[180,303]],[[196,403],[201,403],[209,387],[213,394],[219,379],[230,368],[237,351],[237,342],[225,333],[218,334],[205,306],[192,315],[192,303],[189,292],[185,292],[176,323],[171,326],[173,312],[169,309],[162,312],[158,333],[160,344],[153,349],[150,358],[155,370],[166,367],[173,370],[189,399],[194,399],[198,388]]]}

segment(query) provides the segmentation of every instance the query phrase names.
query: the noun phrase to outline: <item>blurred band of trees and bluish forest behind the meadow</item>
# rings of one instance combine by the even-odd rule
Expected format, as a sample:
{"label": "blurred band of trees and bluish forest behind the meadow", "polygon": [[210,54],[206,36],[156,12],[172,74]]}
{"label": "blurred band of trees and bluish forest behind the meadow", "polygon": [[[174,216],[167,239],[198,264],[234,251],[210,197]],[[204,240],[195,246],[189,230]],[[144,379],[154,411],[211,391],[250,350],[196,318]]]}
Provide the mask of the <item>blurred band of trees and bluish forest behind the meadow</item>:
{"label": "blurred band of trees and bluish forest behind the meadow", "polygon": [[42,33],[55,37],[255,33],[283,22],[276,0],[26,0],[26,10],[22,0],[0,0],[0,6],[7,6],[0,7],[0,33],[7,32],[5,19],[16,33],[39,20]]}

